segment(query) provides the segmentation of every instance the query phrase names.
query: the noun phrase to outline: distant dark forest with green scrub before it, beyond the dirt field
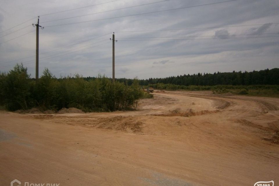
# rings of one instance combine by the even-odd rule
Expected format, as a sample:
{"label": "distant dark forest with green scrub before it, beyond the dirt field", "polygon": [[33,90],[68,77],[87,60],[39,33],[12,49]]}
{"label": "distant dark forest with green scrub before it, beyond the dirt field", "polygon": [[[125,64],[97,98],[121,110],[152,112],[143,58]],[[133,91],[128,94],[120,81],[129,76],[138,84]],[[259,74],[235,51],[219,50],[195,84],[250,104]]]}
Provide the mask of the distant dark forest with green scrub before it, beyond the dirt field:
{"label": "distant dark forest with green scrub before it, beyond the dirt field", "polygon": [[[87,80],[90,77],[87,78]],[[120,78],[119,82],[133,83],[132,79]],[[149,78],[139,80],[144,87],[159,90],[211,90],[214,94],[242,94],[252,96],[279,97],[279,69],[260,71],[198,73],[192,75],[171,76],[167,78]]]}

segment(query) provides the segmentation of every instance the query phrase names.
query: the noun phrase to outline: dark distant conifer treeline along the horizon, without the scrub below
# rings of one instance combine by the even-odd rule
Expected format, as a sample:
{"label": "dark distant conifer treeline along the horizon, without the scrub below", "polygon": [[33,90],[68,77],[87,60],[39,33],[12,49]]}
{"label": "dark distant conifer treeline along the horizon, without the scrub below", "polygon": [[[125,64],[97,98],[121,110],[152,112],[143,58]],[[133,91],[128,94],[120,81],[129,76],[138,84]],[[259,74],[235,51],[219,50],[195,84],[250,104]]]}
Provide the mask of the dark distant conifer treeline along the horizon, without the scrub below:
{"label": "dark distant conifer treeline along the horizon, without the scrub below", "polygon": [[[89,81],[94,77],[86,77]],[[133,79],[130,78],[116,78],[118,82],[124,82],[127,85],[132,85]],[[279,85],[279,68],[264,69],[260,71],[232,71],[232,72],[214,72],[198,73],[198,74],[184,74],[180,76],[169,76],[165,78],[149,78],[139,79],[139,84],[142,86],[153,84],[174,84],[174,85]]]}

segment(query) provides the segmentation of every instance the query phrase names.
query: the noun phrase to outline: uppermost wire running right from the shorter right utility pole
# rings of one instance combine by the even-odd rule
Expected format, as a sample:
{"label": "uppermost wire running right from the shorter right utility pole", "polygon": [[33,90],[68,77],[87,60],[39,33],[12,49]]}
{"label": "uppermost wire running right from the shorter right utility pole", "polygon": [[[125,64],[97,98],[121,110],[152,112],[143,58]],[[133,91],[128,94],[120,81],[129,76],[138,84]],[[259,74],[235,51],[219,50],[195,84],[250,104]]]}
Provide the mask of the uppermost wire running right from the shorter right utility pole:
{"label": "uppermost wire running right from the shorter right utility pole", "polygon": [[217,26],[217,27],[200,27],[200,28],[178,28],[178,29],[161,29],[161,30],[142,30],[142,31],[116,31],[119,32],[153,32],[153,31],[175,31],[175,30],[195,30],[195,29],[211,29],[211,28],[229,28],[229,27],[242,27],[242,26],[262,26],[262,25],[272,25],[279,23],[265,23],[265,24],[247,24],[247,25],[236,25],[236,26]]}

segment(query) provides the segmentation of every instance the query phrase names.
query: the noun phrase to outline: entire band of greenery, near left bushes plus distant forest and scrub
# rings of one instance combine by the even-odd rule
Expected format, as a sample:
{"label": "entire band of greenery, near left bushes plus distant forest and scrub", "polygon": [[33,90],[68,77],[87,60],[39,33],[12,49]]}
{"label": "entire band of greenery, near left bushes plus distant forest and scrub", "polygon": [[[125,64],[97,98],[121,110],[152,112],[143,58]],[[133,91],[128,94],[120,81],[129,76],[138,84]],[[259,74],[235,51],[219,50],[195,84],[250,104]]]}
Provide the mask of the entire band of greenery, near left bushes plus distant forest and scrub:
{"label": "entire band of greenery, near left bushes plus distant forest and scrub", "polygon": [[127,110],[137,107],[140,98],[152,98],[140,85],[159,90],[211,90],[214,94],[241,94],[279,97],[279,69],[253,72],[193,74],[146,80],[117,79],[105,76],[84,78],[78,74],[56,78],[45,69],[38,81],[27,68],[16,65],[0,74],[0,108],[60,110],[76,107],[85,112]]}

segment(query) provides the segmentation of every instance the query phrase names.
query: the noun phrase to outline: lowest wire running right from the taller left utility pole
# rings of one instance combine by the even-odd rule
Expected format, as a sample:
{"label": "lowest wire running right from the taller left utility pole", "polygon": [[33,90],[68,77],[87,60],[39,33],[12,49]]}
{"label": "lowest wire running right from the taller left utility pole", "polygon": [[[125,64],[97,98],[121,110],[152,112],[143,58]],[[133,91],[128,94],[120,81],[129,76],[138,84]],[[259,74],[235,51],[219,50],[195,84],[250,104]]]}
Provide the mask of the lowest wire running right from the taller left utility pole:
{"label": "lowest wire running right from the taller left utility pole", "polygon": [[202,5],[196,5],[196,6],[187,6],[187,7],[180,7],[180,8],[172,8],[172,9],[167,9],[167,10],[159,10],[159,11],[138,13],[138,14],[132,14],[132,15],[123,15],[123,16],[109,17],[109,18],[103,18],[103,19],[94,19],[94,20],[90,20],[90,21],[80,21],[80,22],[74,22],[74,23],[50,25],[50,26],[45,26],[45,27],[63,26],[63,25],[70,25],[70,24],[77,24],[77,23],[86,23],[86,22],[93,22],[93,21],[101,21],[101,20],[115,19],[115,18],[121,18],[121,17],[130,17],[130,16],[135,16],[135,15],[144,15],[144,14],[151,14],[151,13],[157,13],[157,12],[165,12],[165,11],[170,11],[170,10],[181,10],[181,9],[185,9],[185,8],[193,8],[193,7],[198,7],[198,6],[206,6],[206,5],[213,5],[213,4],[219,4],[219,3],[227,3],[227,2],[231,2],[231,1],[238,1],[238,0],[229,0],[229,1],[222,1],[222,2],[217,2],[217,3],[208,3],[208,4],[202,4]]}

